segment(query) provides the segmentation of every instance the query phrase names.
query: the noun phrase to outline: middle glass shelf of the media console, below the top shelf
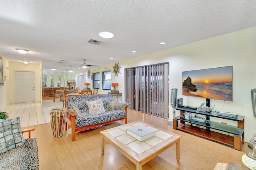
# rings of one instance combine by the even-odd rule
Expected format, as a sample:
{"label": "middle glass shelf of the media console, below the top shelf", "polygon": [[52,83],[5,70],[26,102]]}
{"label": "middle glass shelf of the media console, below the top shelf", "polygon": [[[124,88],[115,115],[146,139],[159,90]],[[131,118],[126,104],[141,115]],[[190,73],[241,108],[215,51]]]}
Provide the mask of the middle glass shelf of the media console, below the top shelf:
{"label": "middle glass shelf of the media console, below the top shelf", "polygon": [[192,123],[192,124],[195,124],[195,125],[201,125],[201,126],[208,127],[208,128],[211,128],[211,129],[224,131],[224,132],[227,132],[227,133],[232,133],[234,135],[242,135],[243,132],[244,132],[244,129],[240,129],[236,126],[226,125],[226,124],[223,124],[223,123],[217,123],[217,122],[209,121],[209,120],[206,120],[205,122],[198,122],[198,121],[194,121],[194,120],[186,120],[186,119],[183,119],[182,115],[179,115],[179,116],[175,117],[175,119],[180,120],[180,121],[185,121],[185,122],[188,122],[188,123]]}

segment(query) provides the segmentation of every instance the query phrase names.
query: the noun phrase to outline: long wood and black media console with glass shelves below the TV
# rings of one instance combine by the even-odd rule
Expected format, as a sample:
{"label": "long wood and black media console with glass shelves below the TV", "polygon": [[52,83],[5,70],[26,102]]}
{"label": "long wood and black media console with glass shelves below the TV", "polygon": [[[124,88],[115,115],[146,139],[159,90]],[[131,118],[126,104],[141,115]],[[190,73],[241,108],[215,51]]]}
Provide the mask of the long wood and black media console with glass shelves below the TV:
{"label": "long wood and black media console with glass shelves below the TV", "polygon": [[[238,115],[237,118],[217,115],[217,112],[200,112],[194,109],[177,107],[180,110],[180,115],[173,119],[173,129],[182,130],[196,136],[200,136],[218,143],[222,143],[236,150],[242,149],[242,142],[244,141],[244,116]],[[192,119],[184,119],[182,114],[184,112],[196,113],[206,116],[206,121],[194,121]],[[228,119],[237,121],[237,126],[232,126],[224,123],[210,121],[210,117],[218,117],[220,119]],[[180,121],[180,123],[178,123]],[[203,128],[201,128],[203,127]],[[226,132],[231,135],[219,133],[214,130]]]}

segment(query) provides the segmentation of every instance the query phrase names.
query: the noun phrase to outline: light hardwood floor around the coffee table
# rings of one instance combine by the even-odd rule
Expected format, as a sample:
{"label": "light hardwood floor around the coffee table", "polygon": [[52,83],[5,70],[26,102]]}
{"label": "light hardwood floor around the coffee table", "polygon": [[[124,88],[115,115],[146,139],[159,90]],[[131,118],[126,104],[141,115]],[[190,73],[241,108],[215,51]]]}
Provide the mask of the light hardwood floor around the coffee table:
{"label": "light hardwood floor around the coffee table", "polygon": [[[218,162],[243,164],[242,155],[250,152],[247,144],[238,151],[188,133],[174,130],[168,120],[128,109],[128,123],[140,120],[181,135],[180,161],[176,161],[176,146],[165,150],[146,164],[143,169],[153,170],[213,170]],[[53,138],[50,123],[32,126],[32,137],[37,138],[39,169],[52,170],[135,170],[130,162],[109,143],[105,143],[105,153],[101,156],[100,131],[117,125],[110,124],[76,133],[76,141],[71,136]],[[25,129],[25,128],[22,128]],[[27,138],[27,134],[24,134]]]}

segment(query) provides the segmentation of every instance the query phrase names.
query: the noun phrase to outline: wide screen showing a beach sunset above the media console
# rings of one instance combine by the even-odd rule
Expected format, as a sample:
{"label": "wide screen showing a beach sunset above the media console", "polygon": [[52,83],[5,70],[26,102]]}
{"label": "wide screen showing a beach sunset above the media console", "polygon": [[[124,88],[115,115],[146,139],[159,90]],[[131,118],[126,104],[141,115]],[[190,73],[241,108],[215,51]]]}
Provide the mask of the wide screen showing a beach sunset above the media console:
{"label": "wide screen showing a beach sunset above the media console", "polygon": [[233,66],[182,72],[182,94],[232,101]]}

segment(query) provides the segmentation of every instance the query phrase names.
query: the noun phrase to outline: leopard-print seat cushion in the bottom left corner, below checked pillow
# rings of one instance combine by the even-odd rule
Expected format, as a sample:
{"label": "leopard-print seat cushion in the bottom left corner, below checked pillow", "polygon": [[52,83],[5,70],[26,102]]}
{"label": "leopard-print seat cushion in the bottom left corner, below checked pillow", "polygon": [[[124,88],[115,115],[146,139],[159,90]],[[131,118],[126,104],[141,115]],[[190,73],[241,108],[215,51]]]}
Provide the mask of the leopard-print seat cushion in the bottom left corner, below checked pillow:
{"label": "leopard-print seat cushion in the bottom left corner, below checked pillow", "polygon": [[36,138],[25,139],[23,145],[0,154],[3,170],[38,170],[38,166]]}

